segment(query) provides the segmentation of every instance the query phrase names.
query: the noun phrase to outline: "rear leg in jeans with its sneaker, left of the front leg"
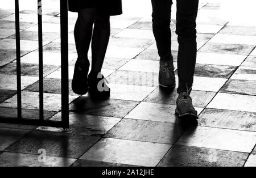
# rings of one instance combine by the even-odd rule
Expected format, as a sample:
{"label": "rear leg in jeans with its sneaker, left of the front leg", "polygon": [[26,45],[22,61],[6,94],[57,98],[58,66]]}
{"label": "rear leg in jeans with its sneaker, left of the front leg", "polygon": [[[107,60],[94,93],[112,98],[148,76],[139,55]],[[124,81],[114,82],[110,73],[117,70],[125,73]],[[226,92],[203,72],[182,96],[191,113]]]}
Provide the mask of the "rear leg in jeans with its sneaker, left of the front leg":
{"label": "rear leg in jeans with its sneaker, left of the front leg", "polygon": [[159,86],[175,87],[173,57],[171,53],[172,0],[151,0],[153,32],[160,56]]}

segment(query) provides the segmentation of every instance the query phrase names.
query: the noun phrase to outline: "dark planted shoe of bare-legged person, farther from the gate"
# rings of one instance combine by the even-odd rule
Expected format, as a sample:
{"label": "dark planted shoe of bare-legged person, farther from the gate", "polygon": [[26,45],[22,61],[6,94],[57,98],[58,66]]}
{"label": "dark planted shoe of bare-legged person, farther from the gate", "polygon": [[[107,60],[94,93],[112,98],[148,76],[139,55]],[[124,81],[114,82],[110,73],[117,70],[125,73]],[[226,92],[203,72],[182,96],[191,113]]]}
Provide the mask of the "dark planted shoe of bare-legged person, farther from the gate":
{"label": "dark planted shoe of bare-legged person, farther from the gate", "polygon": [[88,75],[89,94],[97,98],[110,96],[110,88],[107,83],[108,81],[104,78],[101,72],[91,72]]}

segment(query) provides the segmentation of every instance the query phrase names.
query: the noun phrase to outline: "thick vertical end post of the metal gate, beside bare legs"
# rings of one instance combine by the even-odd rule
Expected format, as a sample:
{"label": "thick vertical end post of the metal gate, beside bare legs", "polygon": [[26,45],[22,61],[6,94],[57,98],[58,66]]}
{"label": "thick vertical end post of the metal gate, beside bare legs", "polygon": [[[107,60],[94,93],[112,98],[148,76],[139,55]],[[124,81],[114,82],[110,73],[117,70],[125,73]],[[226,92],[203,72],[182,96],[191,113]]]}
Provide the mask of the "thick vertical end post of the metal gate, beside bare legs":
{"label": "thick vertical end post of the metal gate, beside bare legs", "polygon": [[68,0],[60,0],[61,39],[61,122],[69,128],[69,87],[68,87]]}

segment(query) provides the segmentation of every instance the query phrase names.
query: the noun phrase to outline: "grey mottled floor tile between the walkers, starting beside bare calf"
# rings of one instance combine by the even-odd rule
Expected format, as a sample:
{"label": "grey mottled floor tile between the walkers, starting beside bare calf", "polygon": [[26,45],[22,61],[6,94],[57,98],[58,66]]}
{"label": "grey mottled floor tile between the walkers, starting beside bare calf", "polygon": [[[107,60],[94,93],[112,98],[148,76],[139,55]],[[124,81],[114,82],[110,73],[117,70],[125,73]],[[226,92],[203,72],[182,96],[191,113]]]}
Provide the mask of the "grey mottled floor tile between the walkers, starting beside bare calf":
{"label": "grey mottled floor tile between the walkers, starting beside bare calf", "polygon": [[112,37],[109,40],[109,46],[117,47],[129,47],[129,48],[144,48],[155,43],[155,40],[152,39],[136,39],[128,37]]}

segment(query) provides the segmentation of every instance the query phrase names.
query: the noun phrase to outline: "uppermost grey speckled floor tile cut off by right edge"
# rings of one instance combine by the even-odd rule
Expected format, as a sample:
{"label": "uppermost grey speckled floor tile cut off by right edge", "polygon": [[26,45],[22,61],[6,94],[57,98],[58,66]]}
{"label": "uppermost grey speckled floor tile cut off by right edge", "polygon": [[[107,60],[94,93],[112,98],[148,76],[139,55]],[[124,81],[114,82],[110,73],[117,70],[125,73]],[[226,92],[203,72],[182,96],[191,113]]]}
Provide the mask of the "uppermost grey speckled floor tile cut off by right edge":
{"label": "uppermost grey speckled floor tile cut off by right edge", "polygon": [[256,36],[256,27],[225,26],[219,34]]}

